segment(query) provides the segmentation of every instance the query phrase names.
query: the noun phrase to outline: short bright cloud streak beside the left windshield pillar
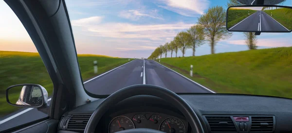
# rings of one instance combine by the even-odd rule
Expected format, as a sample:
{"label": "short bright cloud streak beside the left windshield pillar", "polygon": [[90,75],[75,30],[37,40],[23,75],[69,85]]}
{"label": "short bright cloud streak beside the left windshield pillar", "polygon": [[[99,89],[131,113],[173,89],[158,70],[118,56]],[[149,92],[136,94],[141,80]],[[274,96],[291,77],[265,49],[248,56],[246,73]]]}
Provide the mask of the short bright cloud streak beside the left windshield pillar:
{"label": "short bright cloud streak beside the left windshield pillar", "polygon": [[87,18],[72,20],[71,23],[73,26],[89,26],[89,25],[100,23],[102,18],[103,17],[100,17],[100,16],[87,17]]}

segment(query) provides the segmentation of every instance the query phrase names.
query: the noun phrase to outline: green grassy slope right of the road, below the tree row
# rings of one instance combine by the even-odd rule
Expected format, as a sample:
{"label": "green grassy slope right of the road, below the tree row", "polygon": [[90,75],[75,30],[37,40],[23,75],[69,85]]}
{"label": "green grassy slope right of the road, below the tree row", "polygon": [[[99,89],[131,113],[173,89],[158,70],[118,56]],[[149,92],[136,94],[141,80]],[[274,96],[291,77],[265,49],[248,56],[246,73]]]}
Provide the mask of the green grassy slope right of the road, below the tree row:
{"label": "green grassy slope right of the road, below the tree row", "polygon": [[217,93],[292,98],[292,47],[162,58],[162,64]]}

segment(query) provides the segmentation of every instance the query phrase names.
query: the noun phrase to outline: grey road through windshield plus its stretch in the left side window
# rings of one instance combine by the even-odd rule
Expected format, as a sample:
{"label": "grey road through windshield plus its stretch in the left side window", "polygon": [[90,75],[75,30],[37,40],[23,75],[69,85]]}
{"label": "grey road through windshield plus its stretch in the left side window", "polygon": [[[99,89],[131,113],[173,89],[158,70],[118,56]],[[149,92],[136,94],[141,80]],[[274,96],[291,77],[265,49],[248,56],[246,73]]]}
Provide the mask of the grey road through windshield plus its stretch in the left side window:
{"label": "grey road through windshield plus its stretch in the left side window", "polygon": [[[155,61],[140,59],[84,82],[84,86],[89,92],[99,95],[109,95],[134,84],[158,85],[176,93],[213,93]],[[0,118],[0,132],[46,116],[37,109],[23,108]]]}

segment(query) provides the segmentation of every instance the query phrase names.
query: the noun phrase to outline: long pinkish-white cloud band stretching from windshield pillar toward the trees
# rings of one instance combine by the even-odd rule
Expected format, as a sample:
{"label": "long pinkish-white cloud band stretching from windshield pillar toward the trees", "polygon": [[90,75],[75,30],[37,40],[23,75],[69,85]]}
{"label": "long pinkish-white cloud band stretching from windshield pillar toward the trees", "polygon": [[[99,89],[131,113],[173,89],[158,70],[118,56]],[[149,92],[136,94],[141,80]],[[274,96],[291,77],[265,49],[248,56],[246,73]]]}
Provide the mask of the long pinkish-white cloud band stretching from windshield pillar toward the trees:
{"label": "long pinkish-white cloud band stretching from windshield pillar toward the trees", "polygon": [[[96,21],[96,22],[95,22]],[[114,38],[144,38],[164,40],[172,38],[179,31],[188,29],[193,24],[183,22],[173,24],[135,25],[130,23],[99,23],[100,17],[73,20],[74,26],[82,27],[83,32],[90,36]]]}

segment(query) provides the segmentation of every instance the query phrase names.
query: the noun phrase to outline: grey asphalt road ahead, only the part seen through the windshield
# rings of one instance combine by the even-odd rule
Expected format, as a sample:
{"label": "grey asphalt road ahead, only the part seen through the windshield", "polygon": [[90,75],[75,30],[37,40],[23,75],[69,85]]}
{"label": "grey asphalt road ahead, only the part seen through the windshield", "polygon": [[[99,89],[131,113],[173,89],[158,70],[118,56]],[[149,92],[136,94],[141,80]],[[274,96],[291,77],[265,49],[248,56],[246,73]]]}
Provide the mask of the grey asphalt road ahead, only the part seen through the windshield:
{"label": "grey asphalt road ahead, only the part seen through the windshield", "polygon": [[143,84],[144,67],[146,84],[161,86],[176,93],[210,93],[200,85],[150,60],[145,60],[145,65],[144,60],[134,60],[85,83],[84,86],[91,93],[109,95],[129,85]]}

